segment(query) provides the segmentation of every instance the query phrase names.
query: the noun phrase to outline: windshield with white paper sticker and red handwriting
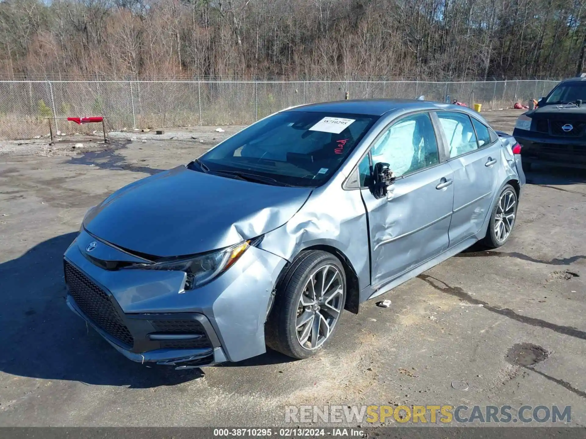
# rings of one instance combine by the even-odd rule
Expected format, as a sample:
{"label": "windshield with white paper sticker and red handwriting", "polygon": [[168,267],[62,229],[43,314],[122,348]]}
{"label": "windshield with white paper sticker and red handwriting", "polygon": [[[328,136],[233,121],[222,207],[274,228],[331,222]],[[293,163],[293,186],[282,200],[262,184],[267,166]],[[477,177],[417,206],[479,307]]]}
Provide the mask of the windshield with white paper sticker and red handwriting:
{"label": "windshield with white paper sticker and red handwriting", "polygon": [[[309,111],[278,113],[220,143],[199,157],[199,163],[211,173],[265,177],[258,180],[260,183],[318,187],[338,170],[378,118]],[[190,169],[197,168],[190,165]]]}

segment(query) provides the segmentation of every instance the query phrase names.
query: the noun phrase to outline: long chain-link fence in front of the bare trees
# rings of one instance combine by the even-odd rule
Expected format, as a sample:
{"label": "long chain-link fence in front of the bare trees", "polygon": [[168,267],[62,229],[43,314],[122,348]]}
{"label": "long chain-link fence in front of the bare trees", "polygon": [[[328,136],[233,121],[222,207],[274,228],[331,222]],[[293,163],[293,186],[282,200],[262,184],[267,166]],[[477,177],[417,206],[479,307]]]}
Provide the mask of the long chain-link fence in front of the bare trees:
{"label": "long chain-link fence in front of the bare trees", "polygon": [[[0,139],[46,135],[46,118],[104,116],[108,129],[246,125],[292,105],[350,99],[526,104],[557,81],[0,81]],[[95,127],[55,121],[62,132]]]}

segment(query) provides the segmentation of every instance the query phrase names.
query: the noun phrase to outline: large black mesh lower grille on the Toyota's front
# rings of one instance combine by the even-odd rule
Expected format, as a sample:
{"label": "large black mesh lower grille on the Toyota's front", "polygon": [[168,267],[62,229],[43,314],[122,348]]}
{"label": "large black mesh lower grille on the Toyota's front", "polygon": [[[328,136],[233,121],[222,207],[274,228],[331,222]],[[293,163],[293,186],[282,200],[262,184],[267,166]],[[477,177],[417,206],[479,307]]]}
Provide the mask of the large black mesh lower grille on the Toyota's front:
{"label": "large black mesh lower grille on the Toyota's front", "polygon": [[69,294],[81,311],[108,334],[132,346],[132,335],[122,323],[122,318],[116,312],[108,294],[69,262],[64,261],[64,265]]}

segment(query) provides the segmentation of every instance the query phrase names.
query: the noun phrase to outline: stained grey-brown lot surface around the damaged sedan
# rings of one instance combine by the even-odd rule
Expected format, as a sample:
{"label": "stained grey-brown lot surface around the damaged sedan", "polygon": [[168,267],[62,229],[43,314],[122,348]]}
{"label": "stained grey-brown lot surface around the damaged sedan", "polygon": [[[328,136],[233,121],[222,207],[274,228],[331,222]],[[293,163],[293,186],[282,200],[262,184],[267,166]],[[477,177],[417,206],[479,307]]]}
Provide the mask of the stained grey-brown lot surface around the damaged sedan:
{"label": "stained grey-brown lot surface around the damaged sedan", "polygon": [[[519,114],[484,115],[510,132]],[[239,129],[216,128],[0,145],[0,426],[282,425],[299,404],[558,404],[586,426],[584,172],[527,174],[503,248],[441,263],[385,294],[389,308],[344,313],[314,358],[149,369],[88,330],[62,273],[87,208]]]}

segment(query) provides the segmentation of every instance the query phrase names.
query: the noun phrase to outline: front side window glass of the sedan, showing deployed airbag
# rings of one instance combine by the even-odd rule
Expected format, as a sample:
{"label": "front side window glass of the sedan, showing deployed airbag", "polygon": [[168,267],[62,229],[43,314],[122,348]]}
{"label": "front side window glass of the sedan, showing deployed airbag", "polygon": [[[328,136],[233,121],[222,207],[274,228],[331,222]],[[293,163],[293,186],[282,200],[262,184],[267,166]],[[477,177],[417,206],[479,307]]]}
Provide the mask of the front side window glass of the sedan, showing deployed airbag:
{"label": "front side window glass of the sedan, showing deployed airbag", "polygon": [[389,163],[396,177],[439,163],[437,140],[428,113],[407,116],[374,142],[374,163]]}

